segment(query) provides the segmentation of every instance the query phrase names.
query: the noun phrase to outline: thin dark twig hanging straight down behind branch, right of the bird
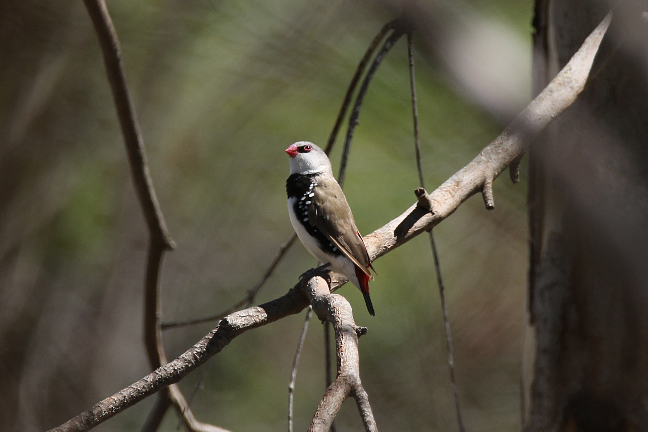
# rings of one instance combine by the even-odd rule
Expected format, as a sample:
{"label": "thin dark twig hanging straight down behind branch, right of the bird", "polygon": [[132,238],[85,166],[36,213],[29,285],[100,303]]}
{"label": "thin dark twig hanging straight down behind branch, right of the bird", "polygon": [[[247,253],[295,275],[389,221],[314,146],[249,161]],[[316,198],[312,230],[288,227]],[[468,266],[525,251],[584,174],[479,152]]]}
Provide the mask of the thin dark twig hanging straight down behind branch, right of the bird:
{"label": "thin dark twig hanging straight down behind branch, right of the bird", "polygon": [[[416,168],[419,172],[419,183],[421,187],[425,188],[425,179],[423,176],[423,168],[421,163],[421,144],[419,141],[419,108],[416,98],[416,78],[414,73],[414,50],[412,48],[412,33],[407,35],[407,51],[410,63],[410,89],[411,89],[411,112],[414,121],[414,148],[416,153]],[[443,324],[446,332],[446,345],[448,347],[448,367],[450,368],[450,382],[452,383],[452,393],[454,394],[454,407],[457,413],[457,424],[459,424],[459,431],[465,432],[463,427],[463,418],[461,416],[461,407],[459,405],[459,393],[457,392],[457,381],[454,377],[454,356],[452,354],[452,336],[450,335],[450,319],[448,319],[448,306],[445,301],[445,286],[443,284],[443,277],[441,277],[441,266],[439,266],[439,253],[437,245],[434,242],[434,234],[432,229],[428,231],[430,234],[430,248],[432,249],[432,256],[434,256],[434,269],[437,273],[437,283],[439,284],[439,297],[441,297],[441,310],[443,311]]]}

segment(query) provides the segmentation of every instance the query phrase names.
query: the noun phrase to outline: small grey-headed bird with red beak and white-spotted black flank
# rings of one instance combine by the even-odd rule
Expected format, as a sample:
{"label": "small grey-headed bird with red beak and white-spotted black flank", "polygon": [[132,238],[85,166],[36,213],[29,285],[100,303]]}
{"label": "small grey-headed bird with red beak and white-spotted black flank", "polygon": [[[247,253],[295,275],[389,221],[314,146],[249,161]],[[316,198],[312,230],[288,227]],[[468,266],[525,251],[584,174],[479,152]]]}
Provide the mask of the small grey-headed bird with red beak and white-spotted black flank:
{"label": "small grey-headed bird with red beak and white-spotted black flank", "polygon": [[288,214],[295,233],[319,262],[345,275],[362,292],[367,310],[375,315],[369,297],[371,260],[358,232],[342,188],[333,177],[329,157],[308,141],[286,148],[290,177],[286,180]]}

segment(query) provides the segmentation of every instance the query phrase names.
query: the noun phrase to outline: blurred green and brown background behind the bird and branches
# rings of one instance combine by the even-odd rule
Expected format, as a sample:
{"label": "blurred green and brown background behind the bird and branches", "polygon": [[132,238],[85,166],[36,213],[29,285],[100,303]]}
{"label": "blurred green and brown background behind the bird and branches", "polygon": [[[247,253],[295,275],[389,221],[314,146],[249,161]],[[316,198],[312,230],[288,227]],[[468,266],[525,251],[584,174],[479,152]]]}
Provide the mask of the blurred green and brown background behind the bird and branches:
{"label": "blurred green and brown background behind the bird and branches", "polygon": [[[421,2],[415,34],[428,190],[466,165],[531,93],[531,0]],[[399,6],[378,0],[110,0],[157,196],[178,247],[165,259],[163,320],[241,299],[292,233],[284,148],[323,146],[356,64]],[[0,429],[42,431],[148,372],[148,234],[97,38],[80,1],[0,3]],[[341,131],[341,135],[345,130]],[[332,152],[337,172],[341,139]],[[467,429],[520,429],[526,319],[526,166],[435,229]],[[415,201],[405,38],[365,98],[345,181],[362,234]],[[316,264],[295,243],[256,304]],[[454,431],[439,293],[426,236],[375,263],[376,316],[347,285],[360,369],[381,431]],[[237,337],[180,387],[196,417],[234,432],[286,430],[304,313]],[[174,358],[213,327],[165,332]],[[312,321],[295,429],[325,391]],[[154,398],[98,431],[138,431]],[[353,400],[338,431],[362,431]],[[170,410],[162,431],[174,431]]]}

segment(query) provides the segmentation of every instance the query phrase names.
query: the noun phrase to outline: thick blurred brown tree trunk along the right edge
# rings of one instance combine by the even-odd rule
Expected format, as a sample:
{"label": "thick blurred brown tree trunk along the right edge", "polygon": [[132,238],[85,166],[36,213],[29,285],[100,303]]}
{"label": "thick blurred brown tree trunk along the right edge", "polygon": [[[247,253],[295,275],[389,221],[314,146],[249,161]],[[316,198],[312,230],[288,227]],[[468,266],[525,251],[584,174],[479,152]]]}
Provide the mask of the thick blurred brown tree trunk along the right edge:
{"label": "thick blurred brown tree trunk along the right edge", "polygon": [[[537,0],[534,90],[612,5]],[[533,144],[524,429],[648,430],[648,23],[621,3],[572,108]]]}

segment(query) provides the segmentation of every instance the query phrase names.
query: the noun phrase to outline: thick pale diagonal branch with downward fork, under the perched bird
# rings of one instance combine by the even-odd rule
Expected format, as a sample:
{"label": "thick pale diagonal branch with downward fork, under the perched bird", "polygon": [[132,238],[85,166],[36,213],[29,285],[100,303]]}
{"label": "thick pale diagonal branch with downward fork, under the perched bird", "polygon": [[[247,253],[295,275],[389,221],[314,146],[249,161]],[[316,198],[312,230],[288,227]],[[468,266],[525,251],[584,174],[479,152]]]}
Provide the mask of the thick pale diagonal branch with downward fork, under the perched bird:
{"label": "thick pale diagonal branch with downward fork, under the perched bird", "polygon": [[[594,56],[611,19],[611,14],[608,14],[584,41],[581,49],[574,54],[572,60],[567,63],[544,91],[522,111],[495,141],[484,148],[469,165],[450,177],[450,179],[445,181],[432,194],[429,194],[429,196],[426,194],[429,199],[425,199],[423,202],[431,202],[434,206],[434,212],[430,212],[430,210],[419,206],[417,202],[398,218],[395,218],[383,227],[365,236],[364,240],[367,244],[367,249],[369,249],[369,253],[374,260],[389,253],[389,251],[399,247],[408,240],[411,240],[423,231],[434,227],[441,220],[452,214],[469,196],[481,190],[486,178],[495,178],[501,174],[515,157],[518,157],[526,150],[529,139],[572,104],[579,93],[583,91],[588,73],[592,67],[592,62],[594,61]],[[313,280],[315,281],[313,282]],[[345,282],[347,281],[340,277],[340,275],[331,275],[332,288],[340,287]],[[317,287],[313,287],[312,284],[316,284]],[[321,284],[324,284],[324,288],[321,287]],[[209,334],[205,335],[196,345],[174,361],[157,368],[141,380],[110,396],[110,398],[102,400],[91,409],[65,422],[65,424],[51,429],[51,432],[87,431],[124,409],[137,404],[137,402],[147,396],[154,394],[170,384],[177,383],[187,376],[189,372],[202,365],[211,356],[220,352],[237,335],[252,328],[272,323],[288,315],[299,313],[308,306],[308,300],[301,293],[300,286],[307,286],[307,288],[310,287],[311,290],[314,290],[311,293],[311,297],[316,304],[312,304],[312,306],[316,313],[318,313],[318,316],[320,312],[326,311],[328,313],[329,309],[337,308],[340,310],[340,313],[337,310],[333,311],[335,313],[332,317],[326,315],[330,317],[334,328],[336,328],[336,345],[339,348],[340,346],[345,346],[345,343],[349,343],[351,346],[355,344],[357,354],[357,335],[363,334],[365,329],[343,327],[341,326],[342,321],[336,323],[336,317],[347,316],[343,315],[347,313],[344,309],[345,305],[341,301],[343,297],[332,294],[319,295],[321,290],[328,290],[328,287],[323,279],[315,277],[308,281],[308,284],[297,284],[297,286],[288,291],[283,297],[279,297],[279,299],[231,313],[231,315],[222,319],[218,323],[218,326],[209,332]],[[330,308],[328,304],[321,302],[323,298],[330,299]],[[351,315],[351,320],[353,320],[353,315]],[[337,329],[339,329],[339,335]],[[353,335],[356,337],[355,341],[353,340]],[[341,345],[338,345],[338,339],[340,339]],[[349,352],[349,354],[353,353]],[[341,359],[338,356],[338,371],[353,369],[352,360],[348,357]],[[342,381],[336,380],[334,384],[338,383],[342,387],[341,391],[344,391],[344,387],[347,384]],[[340,389],[329,388],[329,391],[327,391],[325,398],[320,404],[320,408],[322,409],[319,410],[318,408],[321,415],[316,415],[316,418],[318,418],[318,422],[314,420],[316,424],[326,424],[328,420],[323,416],[332,409],[332,404],[327,402],[326,399],[329,397],[335,398],[338,392],[340,392]],[[373,416],[368,409],[367,402],[364,402],[365,397],[358,392],[353,396],[356,400],[360,401],[358,405],[362,407],[361,412],[364,415],[363,421],[367,425],[365,429],[375,430]],[[373,429],[371,429],[372,427]]]}

